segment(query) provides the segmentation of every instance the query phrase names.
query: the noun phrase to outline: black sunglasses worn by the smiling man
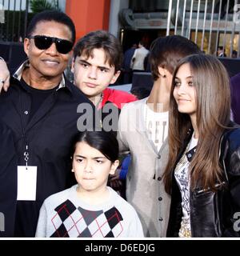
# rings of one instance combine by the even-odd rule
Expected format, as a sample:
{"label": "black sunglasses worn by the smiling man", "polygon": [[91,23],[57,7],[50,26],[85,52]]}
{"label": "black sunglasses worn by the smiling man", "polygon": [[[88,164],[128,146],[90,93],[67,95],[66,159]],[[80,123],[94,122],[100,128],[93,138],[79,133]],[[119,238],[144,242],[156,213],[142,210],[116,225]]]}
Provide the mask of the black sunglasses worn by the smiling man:
{"label": "black sunglasses worn by the smiling man", "polygon": [[46,35],[34,35],[28,38],[34,39],[35,46],[38,47],[39,50],[46,50],[53,43],[56,44],[59,54],[67,54],[73,48],[73,43],[65,39],[47,37]]}

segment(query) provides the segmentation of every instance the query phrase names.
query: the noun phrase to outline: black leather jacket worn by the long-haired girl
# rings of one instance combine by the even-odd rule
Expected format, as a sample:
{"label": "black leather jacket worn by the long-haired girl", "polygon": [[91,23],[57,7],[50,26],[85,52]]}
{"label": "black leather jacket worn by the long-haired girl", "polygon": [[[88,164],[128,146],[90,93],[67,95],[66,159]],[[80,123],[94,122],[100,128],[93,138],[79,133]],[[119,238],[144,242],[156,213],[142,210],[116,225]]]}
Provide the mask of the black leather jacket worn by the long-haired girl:
{"label": "black leather jacket worn by the long-haired girl", "polygon": [[[178,154],[175,166],[190,141],[191,133],[189,132]],[[203,190],[201,184],[198,184],[194,191],[190,190],[192,237],[240,236],[240,128],[226,130],[220,143],[219,160],[225,175],[222,183],[216,183],[217,192]],[[190,150],[186,154],[194,154],[194,151]],[[170,218],[166,234],[168,237],[178,237],[182,221],[181,203],[182,197],[173,171]]]}

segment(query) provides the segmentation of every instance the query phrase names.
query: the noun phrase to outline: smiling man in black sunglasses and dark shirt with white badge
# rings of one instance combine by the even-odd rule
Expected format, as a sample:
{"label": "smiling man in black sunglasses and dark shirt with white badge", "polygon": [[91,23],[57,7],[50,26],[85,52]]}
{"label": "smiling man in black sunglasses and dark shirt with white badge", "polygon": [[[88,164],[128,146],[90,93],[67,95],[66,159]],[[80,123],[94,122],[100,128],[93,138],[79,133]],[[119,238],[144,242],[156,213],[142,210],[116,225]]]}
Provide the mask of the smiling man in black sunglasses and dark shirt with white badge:
{"label": "smiling man in black sunglasses and dark shirt with white badge", "polygon": [[[63,74],[74,41],[74,23],[66,14],[36,14],[24,40],[28,59],[0,95],[0,121],[10,128],[18,157],[14,236],[33,237],[44,199],[71,186],[71,140],[93,124],[94,105]],[[84,123],[81,103],[89,117]]]}

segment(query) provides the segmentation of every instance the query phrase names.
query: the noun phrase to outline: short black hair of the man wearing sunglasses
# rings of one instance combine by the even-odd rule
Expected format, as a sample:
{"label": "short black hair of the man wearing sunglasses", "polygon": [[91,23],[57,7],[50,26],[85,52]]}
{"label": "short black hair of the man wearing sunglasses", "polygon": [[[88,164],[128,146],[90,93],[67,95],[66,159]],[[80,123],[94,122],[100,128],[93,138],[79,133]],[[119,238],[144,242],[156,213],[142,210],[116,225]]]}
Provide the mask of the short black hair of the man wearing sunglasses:
{"label": "short black hair of the man wearing sunglasses", "polygon": [[75,30],[74,22],[71,20],[69,16],[62,13],[61,11],[44,10],[41,13],[34,15],[34,18],[31,19],[29,25],[27,26],[27,30],[26,30],[27,38],[33,34],[38,22],[58,22],[68,26],[72,34],[71,41],[73,43],[75,42],[76,30]]}

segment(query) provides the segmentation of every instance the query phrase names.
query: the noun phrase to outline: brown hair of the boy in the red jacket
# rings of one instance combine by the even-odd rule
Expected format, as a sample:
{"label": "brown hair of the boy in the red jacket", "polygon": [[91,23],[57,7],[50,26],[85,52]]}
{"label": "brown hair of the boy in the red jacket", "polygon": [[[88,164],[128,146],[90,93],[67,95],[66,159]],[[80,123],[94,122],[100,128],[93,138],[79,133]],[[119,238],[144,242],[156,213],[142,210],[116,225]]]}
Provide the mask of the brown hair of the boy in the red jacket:
{"label": "brown hair of the boy in the red jacket", "polygon": [[122,46],[113,34],[105,30],[96,30],[80,38],[74,46],[74,58],[86,55],[87,58],[93,57],[94,49],[103,49],[106,54],[106,62],[114,66],[115,72],[122,67]]}

